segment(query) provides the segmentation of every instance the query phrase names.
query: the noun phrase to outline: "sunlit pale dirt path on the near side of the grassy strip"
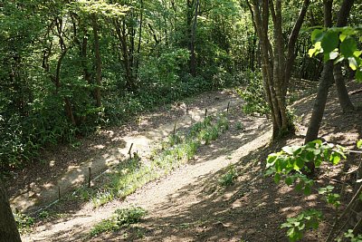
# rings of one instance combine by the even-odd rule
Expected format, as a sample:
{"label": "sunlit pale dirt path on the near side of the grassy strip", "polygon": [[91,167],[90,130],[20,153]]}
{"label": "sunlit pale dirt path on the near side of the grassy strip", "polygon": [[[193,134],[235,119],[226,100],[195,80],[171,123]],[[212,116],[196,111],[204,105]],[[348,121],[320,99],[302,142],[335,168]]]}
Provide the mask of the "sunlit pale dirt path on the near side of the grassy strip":
{"label": "sunlit pale dirt path on the near side of the grassy strip", "polygon": [[[224,109],[222,102],[218,107]],[[216,111],[217,109],[214,109]],[[159,209],[168,204],[169,207],[175,206],[177,196],[181,196],[180,190],[187,186],[193,186],[200,180],[208,178],[211,174],[224,169],[229,164],[238,162],[243,156],[250,151],[258,149],[270,140],[270,126],[266,124],[265,119],[250,118],[240,116],[239,109],[233,106],[234,113],[237,113],[231,119],[232,124],[241,121],[245,127],[244,131],[229,131],[224,139],[216,140],[210,146],[199,150],[198,157],[187,164],[182,169],[178,169],[165,179],[149,183],[143,189],[138,190],[135,194],[129,196],[124,201],[113,201],[110,204],[98,208],[91,208],[88,204],[74,213],[67,220],[52,221],[36,227],[31,235],[23,237],[24,241],[77,241],[89,232],[92,225],[100,222],[101,219],[110,218],[116,208],[127,208],[131,205],[146,208],[148,213],[157,218],[166,214],[158,214]],[[193,119],[200,117],[194,116]],[[187,122],[187,120],[186,120]],[[234,126],[234,125],[233,125]],[[173,125],[163,126],[173,129]],[[164,130],[164,129],[162,129]],[[227,147],[227,150],[223,150]],[[183,206],[192,206],[198,202],[194,192],[194,197],[188,197],[187,201],[182,200]],[[164,211],[167,212],[167,211]],[[163,212],[163,213],[164,213]],[[157,214],[157,215],[156,215]],[[107,240],[107,239],[106,239]],[[157,239],[156,239],[157,240]]]}

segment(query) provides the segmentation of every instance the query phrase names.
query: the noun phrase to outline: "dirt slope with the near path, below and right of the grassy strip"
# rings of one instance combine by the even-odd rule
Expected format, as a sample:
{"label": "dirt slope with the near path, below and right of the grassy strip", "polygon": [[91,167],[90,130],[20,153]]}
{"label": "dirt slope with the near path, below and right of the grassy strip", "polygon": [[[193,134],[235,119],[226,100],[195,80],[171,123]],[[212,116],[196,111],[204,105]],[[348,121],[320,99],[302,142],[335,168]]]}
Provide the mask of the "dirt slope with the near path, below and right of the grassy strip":
{"label": "dirt slope with the near path, below and right of the grassy strip", "polygon": [[[224,100],[231,98],[226,96]],[[332,90],[321,135],[325,140],[345,144],[353,149],[356,139],[361,138],[362,127],[356,125],[362,120],[361,111],[342,114],[336,97]],[[270,121],[246,117],[240,107],[233,106],[228,114],[231,129],[211,145],[201,147],[193,162],[164,179],[148,183],[123,201],[114,200],[97,209],[92,208],[90,203],[54,208],[66,210],[69,215],[39,223],[31,234],[23,236],[23,240],[81,241],[92,225],[103,218],[110,218],[116,208],[133,205],[148,210],[147,218],[141,223],[87,240],[287,241],[285,229],[279,228],[281,223],[302,209],[318,208],[325,214],[325,219],[319,229],[308,232],[303,241],[323,241],[336,211],[326,206],[325,201],[315,192],[304,198],[292,188],[277,186],[271,178],[262,176],[267,154],[280,150],[286,144],[302,143],[312,100],[313,96],[310,96],[294,105],[299,132],[277,143],[269,142]],[[216,101],[223,101],[223,98]],[[352,101],[362,103],[362,94],[352,95]],[[176,110],[180,106],[183,104],[177,105]],[[203,111],[204,108],[205,106],[198,109]],[[179,116],[176,115],[172,121],[177,117]],[[236,129],[238,121],[243,123],[244,131]],[[148,127],[152,125],[149,124]],[[342,162],[337,168],[323,167],[317,178],[316,188],[330,180],[334,180],[332,183],[338,190],[342,189],[341,184],[347,184],[343,187],[346,203],[355,177],[354,174],[345,175],[340,171],[355,169],[359,162],[359,158],[351,156],[348,162]],[[238,178],[232,187],[224,188],[218,180],[227,172],[226,167],[231,163],[237,167]]]}

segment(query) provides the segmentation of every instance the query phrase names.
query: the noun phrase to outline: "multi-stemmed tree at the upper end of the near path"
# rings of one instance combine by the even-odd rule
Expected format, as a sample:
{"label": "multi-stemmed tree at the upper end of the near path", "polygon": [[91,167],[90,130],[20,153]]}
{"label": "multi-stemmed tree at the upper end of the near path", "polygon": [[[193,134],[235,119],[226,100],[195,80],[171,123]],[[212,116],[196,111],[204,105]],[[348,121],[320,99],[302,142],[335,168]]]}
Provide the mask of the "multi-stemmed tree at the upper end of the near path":
{"label": "multi-stemmed tree at the upper end of the near path", "polygon": [[[275,5],[272,0],[262,1],[262,4],[257,0],[252,0],[252,4],[247,3],[261,44],[263,87],[271,109],[272,134],[275,139],[293,131],[286,108],[286,94],[295,59],[294,47],[310,1],[305,0],[301,5],[300,14],[289,36],[287,54],[283,43],[281,0],[275,1]],[[268,32],[270,15],[274,29],[273,43]]]}

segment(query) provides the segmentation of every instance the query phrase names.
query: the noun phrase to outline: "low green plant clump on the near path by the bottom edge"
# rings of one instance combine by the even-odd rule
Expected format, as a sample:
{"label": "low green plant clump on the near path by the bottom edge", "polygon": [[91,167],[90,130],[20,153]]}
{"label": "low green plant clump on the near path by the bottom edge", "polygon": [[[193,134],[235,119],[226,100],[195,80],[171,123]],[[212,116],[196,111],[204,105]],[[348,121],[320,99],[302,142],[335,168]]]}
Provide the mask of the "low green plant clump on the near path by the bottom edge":
{"label": "low green plant clump on the near path by the bottom edge", "polygon": [[139,207],[117,209],[112,218],[103,219],[91,228],[90,237],[97,237],[101,233],[117,231],[121,227],[136,224],[146,215],[147,211]]}

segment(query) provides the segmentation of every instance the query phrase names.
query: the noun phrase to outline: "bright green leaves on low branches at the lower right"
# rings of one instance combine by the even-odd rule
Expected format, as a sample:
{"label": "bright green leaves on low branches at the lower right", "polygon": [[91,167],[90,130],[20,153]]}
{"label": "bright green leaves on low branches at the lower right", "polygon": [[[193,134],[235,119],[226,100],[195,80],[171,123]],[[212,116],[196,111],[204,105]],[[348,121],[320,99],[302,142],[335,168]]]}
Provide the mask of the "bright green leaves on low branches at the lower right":
{"label": "bright green leaves on low branches at the lower right", "polygon": [[[297,190],[309,196],[314,181],[302,174],[303,170],[308,170],[307,163],[314,163],[315,167],[320,167],[323,161],[337,165],[342,158],[346,158],[342,147],[321,140],[314,140],[302,146],[285,146],[280,152],[268,156],[266,175],[273,174],[276,183],[284,179],[288,186],[296,184]],[[333,193],[333,189],[334,187],[330,185],[320,188],[319,195],[323,195],[327,203],[338,208],[340,196]],[[310,209],[302,211],[297,217],[288,218],[281,228],[287,227],[290,241],[297,241],[303,237],[303,231],[306,229],[318,228],[321,218],[322,214],[319,211]]]}

